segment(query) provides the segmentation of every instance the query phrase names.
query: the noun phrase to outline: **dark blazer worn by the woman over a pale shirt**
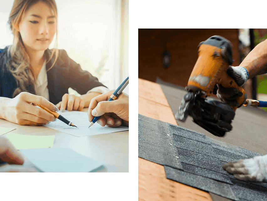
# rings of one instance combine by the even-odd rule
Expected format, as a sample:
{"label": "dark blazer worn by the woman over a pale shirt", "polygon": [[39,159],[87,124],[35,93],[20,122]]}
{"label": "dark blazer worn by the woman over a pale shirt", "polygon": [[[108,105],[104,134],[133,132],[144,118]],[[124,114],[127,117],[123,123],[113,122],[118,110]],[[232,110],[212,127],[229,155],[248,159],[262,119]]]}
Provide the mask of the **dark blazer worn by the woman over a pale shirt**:
{"label": "dark blazer worn by the woman over a pale shirt", "polygon": [[[17,82],[11,72],[7,69],[6,63],[9,61],[8,46],[0,49],[0,97],[12,98],[13,92],[18,87]],[[51,50],[44,51],[46,61],[50,58]],[[55,56],[46,63],[48,70]],[[71,87],[80,94],[86,94],[94,87],[104,86],[98,82],[97,77],[92,76],[88,71],[81,69],[80,64],[73,61],[65,50],[59,50],[59,57],[55,65],[47,72],[49,99],[53,104],[57,104],[62,100],[62,96],[68,93]]]}

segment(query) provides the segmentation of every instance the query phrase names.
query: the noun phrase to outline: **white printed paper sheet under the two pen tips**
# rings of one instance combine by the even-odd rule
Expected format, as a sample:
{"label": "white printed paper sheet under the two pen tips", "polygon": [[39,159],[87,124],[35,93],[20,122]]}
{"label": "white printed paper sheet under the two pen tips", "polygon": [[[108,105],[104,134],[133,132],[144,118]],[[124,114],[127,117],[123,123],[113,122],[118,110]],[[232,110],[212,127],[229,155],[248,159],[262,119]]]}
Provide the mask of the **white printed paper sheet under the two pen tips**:
{"label": "white printed paper sheet under the two pen tips", "polygon": [[59,111],[58,113],[61,114],[65,119],[71,121],[78,128],[68,126],[59,119],[57,119],[55,122],[50,122],[45,126],[77,137],[129,130],[129,127],[125,126],[119,126],[117,128],[110,128],[107,126],[102,127],[97,122],[88,128],[90,122],[88,121],[87,112],[65,110],[64,112]]}

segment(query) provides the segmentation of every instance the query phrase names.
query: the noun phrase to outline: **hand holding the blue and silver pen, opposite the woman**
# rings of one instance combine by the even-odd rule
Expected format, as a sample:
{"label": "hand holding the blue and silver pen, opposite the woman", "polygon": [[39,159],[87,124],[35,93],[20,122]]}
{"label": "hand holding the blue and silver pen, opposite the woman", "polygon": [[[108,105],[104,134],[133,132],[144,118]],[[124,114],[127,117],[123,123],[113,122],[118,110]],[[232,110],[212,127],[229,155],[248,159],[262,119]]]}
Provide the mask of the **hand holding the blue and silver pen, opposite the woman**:
{"label": "hand holding the blue and silver pen, opposite the woman", "polygon": [[129,96],[122,93],[118,99],[107,101],[114,90],[92,98],[88,108],[89,122],[96,116],[101,116],[97,123],[101,126],[129,126]]}

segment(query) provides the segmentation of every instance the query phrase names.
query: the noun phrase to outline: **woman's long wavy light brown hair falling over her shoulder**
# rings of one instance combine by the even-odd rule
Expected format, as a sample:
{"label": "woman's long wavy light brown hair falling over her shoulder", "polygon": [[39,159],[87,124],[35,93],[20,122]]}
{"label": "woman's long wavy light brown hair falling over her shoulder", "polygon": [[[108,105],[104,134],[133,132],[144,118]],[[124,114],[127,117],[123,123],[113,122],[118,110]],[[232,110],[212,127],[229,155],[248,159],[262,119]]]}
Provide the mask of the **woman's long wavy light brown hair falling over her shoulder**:
{"label": "woman's long wavy light brown hair falling over her shoulder", "polygon": [[48,60],[50,61],[55,54],[55,61],[47,71],[49,71],[54,66],[58,58],[59,51],[57,49],[57,7],[55,0],[14,0],[13,7],[8,19],[8,24],[14,35],[14,39],[13,45],[10,45],[8,47],[8,54],[10,54],[11,57],[7,62],[7,68],[16,79],[18,88],[15,89],[12,98],[16,97],[21,92],[36,94],[34,88],[35,80],[30,69],[30,57],[25,50],[20,32],[16,28],[18,28],[18,24],[24,16],[24,13],[26,13],[31,6],[38,3],[39,1],[46,3],[47,6],[49,6],[54,11],[56,19],[56,48],[52,49],[52,54]]}

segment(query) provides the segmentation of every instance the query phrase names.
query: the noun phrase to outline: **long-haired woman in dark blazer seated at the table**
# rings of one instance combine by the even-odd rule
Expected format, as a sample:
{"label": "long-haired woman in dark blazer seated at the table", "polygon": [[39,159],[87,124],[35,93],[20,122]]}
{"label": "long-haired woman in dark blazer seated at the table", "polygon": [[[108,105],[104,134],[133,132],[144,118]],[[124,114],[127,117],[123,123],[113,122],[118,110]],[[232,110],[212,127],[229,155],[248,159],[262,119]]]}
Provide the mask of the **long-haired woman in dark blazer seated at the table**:
{"label": "long-haired woman in dark blazer seated at the table", "polygon": [[[58,111],[88,107],[92,98],[108,90],[65,50],[48,47],[56,33],[55,0],[15,0],[8,23],[13,45],[0,49],[0,118],[20,125],[44,125]],[[56,40],[57,41],[57,40]],[[68,95],[68,88],[83,94]]]}

